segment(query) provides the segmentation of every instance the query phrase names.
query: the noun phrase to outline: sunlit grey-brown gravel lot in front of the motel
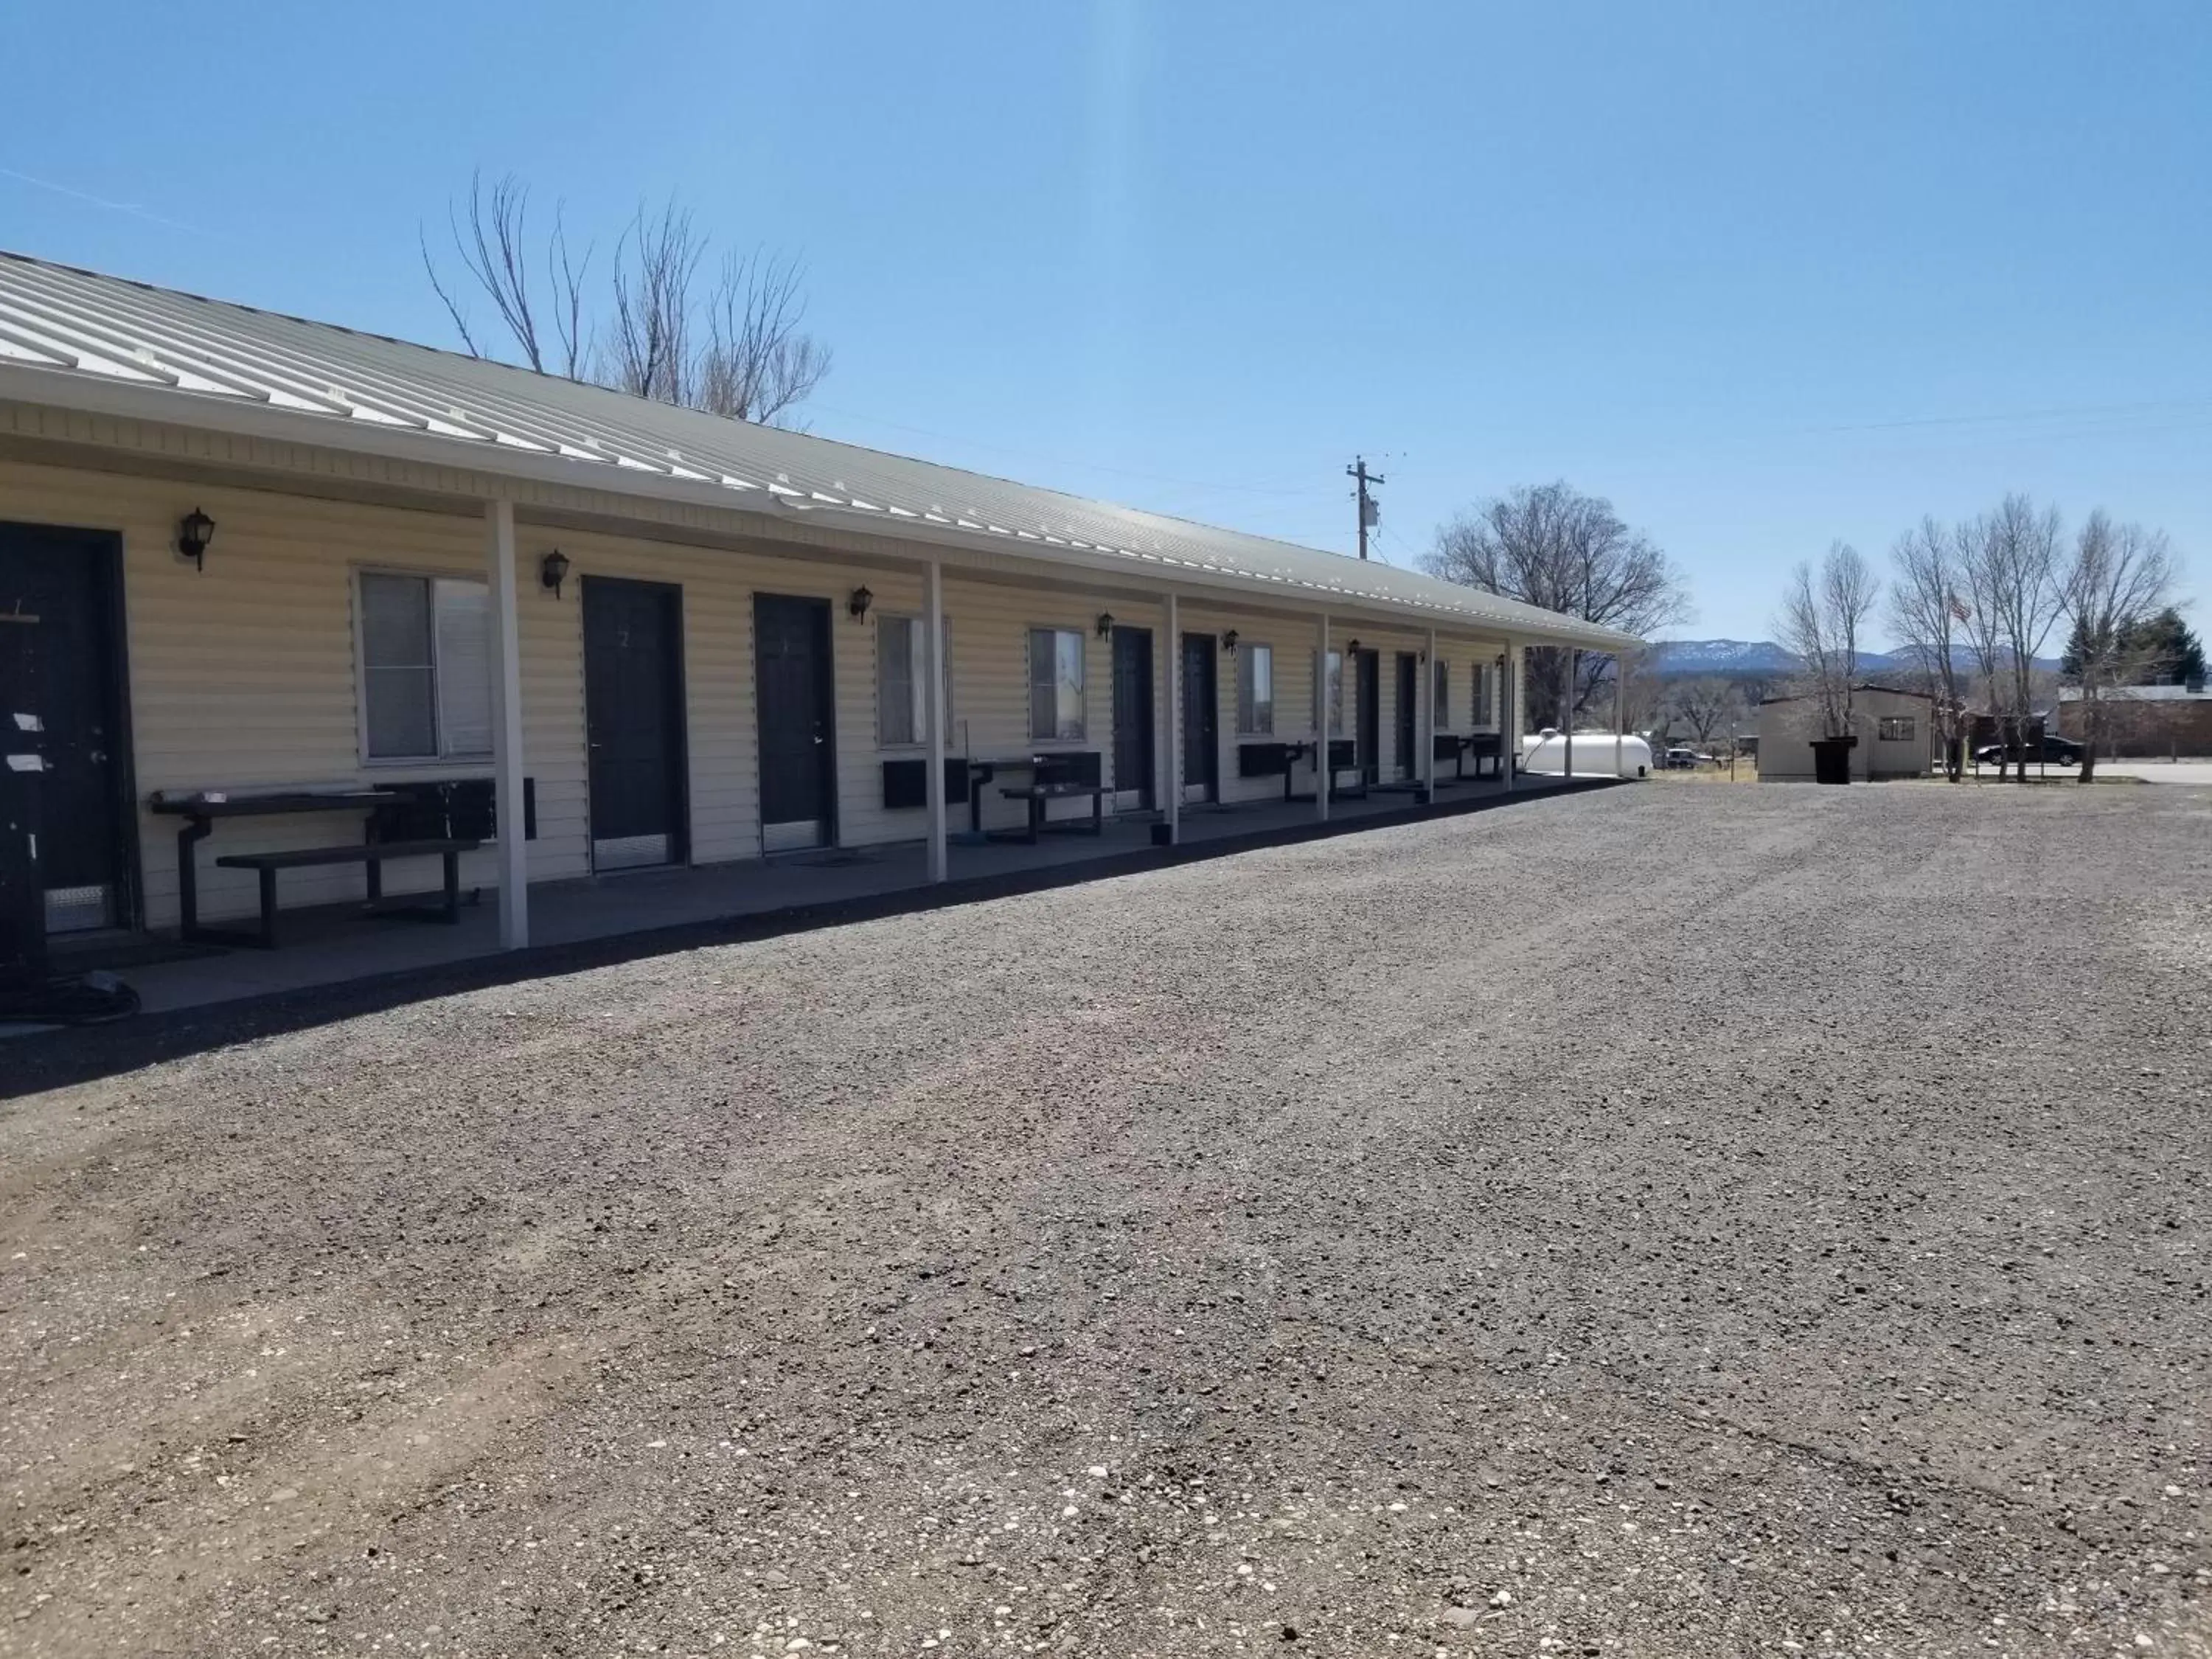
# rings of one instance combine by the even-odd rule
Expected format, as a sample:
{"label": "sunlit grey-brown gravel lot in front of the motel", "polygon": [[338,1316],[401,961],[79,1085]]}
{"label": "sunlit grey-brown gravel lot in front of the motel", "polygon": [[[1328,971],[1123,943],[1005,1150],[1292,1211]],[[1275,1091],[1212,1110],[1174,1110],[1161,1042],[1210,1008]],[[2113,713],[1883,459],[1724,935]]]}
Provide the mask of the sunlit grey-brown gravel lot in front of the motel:
{"label": "sunlit grey-brown gravel lot in front of the motel", "polygon": [[2208,953],[1641,787],[24,1095],[0,1652],[2205,1655]]}

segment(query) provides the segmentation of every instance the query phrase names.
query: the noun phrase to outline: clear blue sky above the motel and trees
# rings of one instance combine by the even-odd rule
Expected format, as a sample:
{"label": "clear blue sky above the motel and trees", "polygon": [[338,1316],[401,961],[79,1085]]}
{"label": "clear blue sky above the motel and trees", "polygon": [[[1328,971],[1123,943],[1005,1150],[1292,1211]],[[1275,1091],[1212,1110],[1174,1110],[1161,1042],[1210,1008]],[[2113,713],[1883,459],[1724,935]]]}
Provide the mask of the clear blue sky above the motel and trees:
{"label": "clear blue sky above the motel and trees", "polygon": [[[2006,489],[2212,573],[2212,7],[24,7],[0,246],[438,345],[515,168],[805,257],[812,427],[1349,551],[1568,478],[1688,571]],[[2203,580],[2203,577],[2199,577]],[[2192,584],[2192,591],[2194,584]],[[2212,588],[2205,588],[2212,591]],[[2197,611],[2203,622],[2203,608]]]}

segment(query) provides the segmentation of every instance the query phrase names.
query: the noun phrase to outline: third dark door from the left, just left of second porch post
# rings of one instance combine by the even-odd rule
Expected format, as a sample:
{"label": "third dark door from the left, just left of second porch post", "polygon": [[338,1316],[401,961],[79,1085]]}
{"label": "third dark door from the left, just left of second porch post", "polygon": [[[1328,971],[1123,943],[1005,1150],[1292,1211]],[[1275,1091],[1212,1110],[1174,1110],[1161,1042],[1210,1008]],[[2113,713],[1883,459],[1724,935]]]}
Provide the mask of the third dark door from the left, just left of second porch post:
{"label": "third dark door from the left, just left of second porch post", "polygon": [[836,838],[836,692],[830,602],[752,595],[761,712],[761,847],[827,847]]}

